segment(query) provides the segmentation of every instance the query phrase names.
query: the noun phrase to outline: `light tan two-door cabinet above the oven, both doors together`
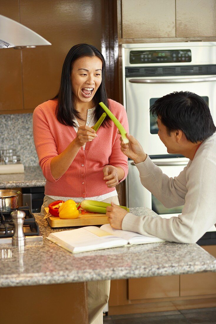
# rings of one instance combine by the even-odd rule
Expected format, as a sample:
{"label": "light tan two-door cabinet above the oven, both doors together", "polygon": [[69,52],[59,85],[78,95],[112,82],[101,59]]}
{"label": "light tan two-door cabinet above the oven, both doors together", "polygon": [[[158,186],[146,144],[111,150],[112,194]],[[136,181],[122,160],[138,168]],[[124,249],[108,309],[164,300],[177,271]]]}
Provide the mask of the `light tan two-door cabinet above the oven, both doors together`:
{"label": "light tan two-door cabinet above the oven, both doors together", "polygon": [[[178,41],[181,41],[181,38],[202,40],[216,36],[215,0],[119,2],[122,11],[123,42],[148,42],[148,39],[156,42],[169,39],[176,41],[177,38]],[[143,39],[145,41],[140,41]]]}

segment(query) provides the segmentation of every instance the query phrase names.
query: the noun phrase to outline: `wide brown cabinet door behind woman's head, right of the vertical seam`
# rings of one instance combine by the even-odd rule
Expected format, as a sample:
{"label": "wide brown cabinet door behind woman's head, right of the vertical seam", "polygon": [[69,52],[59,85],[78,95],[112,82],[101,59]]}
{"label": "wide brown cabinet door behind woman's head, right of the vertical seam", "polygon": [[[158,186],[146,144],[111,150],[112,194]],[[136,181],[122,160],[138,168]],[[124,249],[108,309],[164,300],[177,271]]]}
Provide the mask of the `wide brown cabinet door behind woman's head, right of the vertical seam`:
{"label": "wide brown cabinet door behind woman's head, right of the vertical seam", "polygon": [[52,43],[51,46],[23,50],[25,110],[33,111],[37,105],[56,95],[62,64],[73,45],[88,43],[100,50],[101,3],[101,0],[20,2],[21,23]]}

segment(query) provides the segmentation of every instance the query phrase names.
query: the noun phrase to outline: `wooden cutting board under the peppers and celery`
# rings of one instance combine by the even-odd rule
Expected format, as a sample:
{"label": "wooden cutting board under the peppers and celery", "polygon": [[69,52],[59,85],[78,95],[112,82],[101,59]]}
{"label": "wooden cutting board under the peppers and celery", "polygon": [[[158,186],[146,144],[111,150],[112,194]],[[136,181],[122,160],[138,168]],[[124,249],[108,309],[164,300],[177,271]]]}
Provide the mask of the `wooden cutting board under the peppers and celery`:
{"label": "wooden cutting board under the peppers and celery", "polygon": [[45,207],[44,215],[49,216],[47,217],[47,222],[51,227],[103,225],[109,223],[106,214],[80,214],[75,219],[61,219],[60,217],[52,216],[49,213],[49,208]]}

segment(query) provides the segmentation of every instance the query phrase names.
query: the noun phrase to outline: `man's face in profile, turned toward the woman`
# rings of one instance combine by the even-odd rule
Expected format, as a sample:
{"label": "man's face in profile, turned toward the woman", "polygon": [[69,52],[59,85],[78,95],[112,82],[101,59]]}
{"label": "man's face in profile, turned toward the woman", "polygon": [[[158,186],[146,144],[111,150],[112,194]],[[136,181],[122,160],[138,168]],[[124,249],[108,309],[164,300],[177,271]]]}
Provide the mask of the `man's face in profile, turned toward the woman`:
{"label": "man's face in profile, turned toward the woman", "polygon": [[171,154],[178,153],[175,132],[170,132],[170,134],[168,134],[166,126],[162,123],[159,117],[157,119],[157,125],[158,125],[158,136],[160,137],[160,140],[163,142],[163,144],[166,146],[167,153],[171,153]]}

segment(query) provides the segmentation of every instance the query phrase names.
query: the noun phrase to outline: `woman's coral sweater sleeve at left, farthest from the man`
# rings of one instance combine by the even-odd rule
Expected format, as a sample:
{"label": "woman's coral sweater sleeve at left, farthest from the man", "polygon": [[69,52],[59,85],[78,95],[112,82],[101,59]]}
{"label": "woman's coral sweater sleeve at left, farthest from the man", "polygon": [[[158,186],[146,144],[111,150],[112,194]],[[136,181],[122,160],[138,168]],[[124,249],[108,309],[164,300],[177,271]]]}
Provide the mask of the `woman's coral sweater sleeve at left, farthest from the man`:
{"label": "woman's coral sweater sleeve at left, farthest from the man", "polygon": [[58,155],[57,147],[47,118],[40,106],[36,107],[33,112],[33,137],[44,177],[50,182],[58,181],[53,178],[50,169],[52,158]]}

